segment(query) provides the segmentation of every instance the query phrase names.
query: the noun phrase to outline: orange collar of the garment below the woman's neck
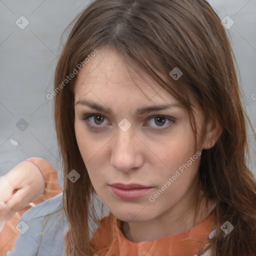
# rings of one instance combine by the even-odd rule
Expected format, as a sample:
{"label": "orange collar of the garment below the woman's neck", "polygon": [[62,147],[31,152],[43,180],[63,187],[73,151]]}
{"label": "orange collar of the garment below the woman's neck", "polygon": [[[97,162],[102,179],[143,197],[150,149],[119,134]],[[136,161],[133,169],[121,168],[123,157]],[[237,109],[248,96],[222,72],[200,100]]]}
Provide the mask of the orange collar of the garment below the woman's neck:
{"label": "orange collar of the garment below the woman's neck", "polygon": [[124,236],[121,221],[110,213],[100,220],[91,245],[98,256],[192,256],[209,240],[214,228],[215,215],[211,213],[204,221],[182,233],[152,242],[132,242]]}

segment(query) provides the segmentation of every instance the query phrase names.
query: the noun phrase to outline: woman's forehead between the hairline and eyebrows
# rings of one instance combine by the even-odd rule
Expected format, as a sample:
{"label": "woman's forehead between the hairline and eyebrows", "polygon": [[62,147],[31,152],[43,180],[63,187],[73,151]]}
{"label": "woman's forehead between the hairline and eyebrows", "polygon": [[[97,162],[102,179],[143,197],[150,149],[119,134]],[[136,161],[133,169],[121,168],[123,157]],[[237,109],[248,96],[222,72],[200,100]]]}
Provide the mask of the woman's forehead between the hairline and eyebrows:
{"label": "woman's forehead between the hairline and eyebrows", "polygon": [[[84,97],[111,100],[177,103],[145,72],[130,65],[112,48],[101,48],[77,74],[75,101]],[[103,100],[104,101],[104,100]]]}

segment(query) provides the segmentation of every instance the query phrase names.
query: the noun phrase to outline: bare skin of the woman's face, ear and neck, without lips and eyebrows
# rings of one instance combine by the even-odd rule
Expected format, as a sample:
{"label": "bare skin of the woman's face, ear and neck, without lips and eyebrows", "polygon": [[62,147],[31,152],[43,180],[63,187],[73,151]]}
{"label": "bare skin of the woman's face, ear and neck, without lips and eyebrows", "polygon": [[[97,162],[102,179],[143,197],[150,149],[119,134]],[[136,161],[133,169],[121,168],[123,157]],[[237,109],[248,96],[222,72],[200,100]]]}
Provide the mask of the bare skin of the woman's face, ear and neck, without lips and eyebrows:
{"label": "bare skin of the woman's face, ear and neck, without lips and eyebrows", "polygon": [[[200,157],[192,161],[158,198],[149,201],[149,196],[196,154],[192,128],[183,108],[135,114],[137,108],[178,103],[172,95],[148,76],[138,75],[115,50],[102,48],[78,74],[74,98],[76,140],[90,180],[103,203],[122,220],[128,239],[153,241],[190,229],[208,216],[214,203],[205,209],[202,199],[193,222]],[[113,113],[92,109],[82,104],[82,100],[96,102]],[[92,116],[83,120],[88,113],[100,114],[103,118]],[[214,145],[219,131],[210,123],[204,127],[202,113],[198,109],[195,113],[198,151],[201,152]],[[169,116],[175,121],[164,118],[157,121],[154,115]],[[118,126],[123,118],[131,123],[126,131]],[[114,182],[139,183],[152,188],[141,198],[127,201],[113,194],[109,184]]]}

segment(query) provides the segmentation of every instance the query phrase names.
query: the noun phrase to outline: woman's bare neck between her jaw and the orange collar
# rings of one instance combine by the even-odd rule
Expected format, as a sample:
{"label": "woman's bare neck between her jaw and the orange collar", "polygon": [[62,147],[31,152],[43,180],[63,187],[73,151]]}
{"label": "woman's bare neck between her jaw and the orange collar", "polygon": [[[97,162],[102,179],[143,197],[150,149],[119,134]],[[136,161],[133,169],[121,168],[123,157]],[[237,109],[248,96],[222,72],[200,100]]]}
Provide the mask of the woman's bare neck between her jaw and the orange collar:
{"label": "woman's bare neck between her jaw and the orange collar", "polygon": [[[142,222],[124,222],[121,221],[123,234],[127,239],[133,242],[154,241],[158,238],[184,232],[191,229],[206,219],[214,209],[215,203],[209,201],[206,207],[206,198],[203,197],[198,205],[196,213],[195,195],[188,191],[192,196],[186,201],[190,204],[184,204],[182,199],[173,205],[167,212],[157,218]],[[202,196],[202,191],[199,191]],[[186,205],[184,207],[184,205]]]}

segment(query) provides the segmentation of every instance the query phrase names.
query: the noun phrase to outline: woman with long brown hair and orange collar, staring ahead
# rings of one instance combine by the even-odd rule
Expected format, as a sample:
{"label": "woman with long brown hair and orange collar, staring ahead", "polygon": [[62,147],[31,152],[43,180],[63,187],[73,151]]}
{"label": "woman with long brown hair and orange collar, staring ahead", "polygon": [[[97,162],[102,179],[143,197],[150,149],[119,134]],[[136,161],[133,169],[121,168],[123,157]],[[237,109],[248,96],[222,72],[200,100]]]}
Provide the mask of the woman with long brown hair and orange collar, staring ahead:
{"label": "woman with long brown hair and orange collar, staring ahead", "polygon": [[[93,1],[50,95],[65,214],[53,197],[40,217],[43,228],[59,227],[54,235],[33,238],[33,218],[8,255],[25,253],[28,237],[31,251],[51,253],[62,235],[55,255],[63,246],[65,255],[255,255],[247,115],[225,30],[206,1]],[[110,211],[100,222],[95,193]]]}

